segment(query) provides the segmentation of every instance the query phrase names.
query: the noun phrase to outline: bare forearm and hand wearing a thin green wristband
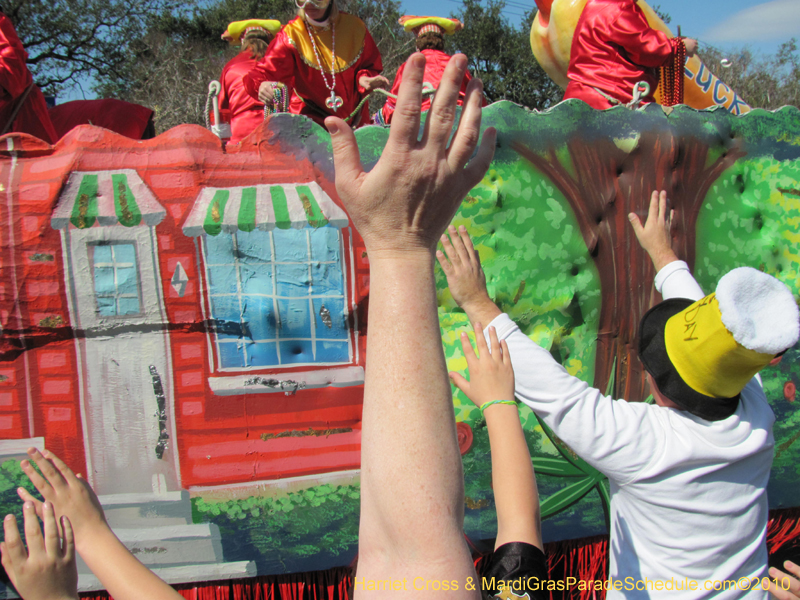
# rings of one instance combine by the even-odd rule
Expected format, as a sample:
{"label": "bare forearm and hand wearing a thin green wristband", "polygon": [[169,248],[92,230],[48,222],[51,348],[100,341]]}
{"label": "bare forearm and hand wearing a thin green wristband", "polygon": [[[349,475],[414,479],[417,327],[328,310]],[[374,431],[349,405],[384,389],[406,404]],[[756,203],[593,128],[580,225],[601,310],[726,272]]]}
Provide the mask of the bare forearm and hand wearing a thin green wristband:
{"label": "bare forearm and hand wearing a thin green wristband", "polygon": [[475,355],[467,334],[461,334],[470,380],[455,372],[450,373],[450,378],[481,409],[489,429],[492,488],[497,506],[495,549],[509,542],[526,542],[542,550],[539,494],[530,451],[513,403],[514,371],[508,346],[505,340],[497,341],[497,332],[490,327],[490,350],[480,323],[475,324],[475,339],[479,356]]}

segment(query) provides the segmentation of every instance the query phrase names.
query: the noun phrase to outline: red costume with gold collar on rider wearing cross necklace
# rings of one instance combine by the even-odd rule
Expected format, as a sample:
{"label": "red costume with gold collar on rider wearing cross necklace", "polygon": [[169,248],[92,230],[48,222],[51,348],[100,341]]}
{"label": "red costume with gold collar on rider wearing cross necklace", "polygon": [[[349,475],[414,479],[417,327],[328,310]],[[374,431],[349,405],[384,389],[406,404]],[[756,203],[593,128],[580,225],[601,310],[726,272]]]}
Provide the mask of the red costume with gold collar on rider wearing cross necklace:
{"label": "red costume with gold collar on rider wearing cross necklace", "polygon": [[[314,35],[314,45],[309,37]],[[331,92],[333,33],[336,36],[334,92],[342,99],[342,106],[334,112],[326,105]],[[319,56],[319,60],[318,57]],[[320,64],[324,72],[320,72]],[[301,17],[289,21],[275,37],[263,59],[244,77],[244,86],[252,98],[258,98],[258,88],[265,81],[286,84],[295,95],[289,112],[306,115],[322,124],[325,117],[343,119],[356,109],[367,92],[358,84],[364,75],[374,77],[383,70],[378,51],[366,25],[356,16],[338,13],[325,27],[306,25]],[[351,125],[369,123],[368,106],[350,122]]]}

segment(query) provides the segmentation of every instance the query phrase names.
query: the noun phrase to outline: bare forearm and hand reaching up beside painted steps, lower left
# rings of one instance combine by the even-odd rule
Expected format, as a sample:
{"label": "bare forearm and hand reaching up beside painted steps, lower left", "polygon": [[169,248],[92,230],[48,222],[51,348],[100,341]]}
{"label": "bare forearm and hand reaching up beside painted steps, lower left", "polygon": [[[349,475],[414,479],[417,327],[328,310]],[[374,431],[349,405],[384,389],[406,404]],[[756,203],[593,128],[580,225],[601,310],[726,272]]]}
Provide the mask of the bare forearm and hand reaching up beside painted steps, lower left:
{"label": "bare forearm and hand reaching up beside painted steps, lower left", "polygon": [[100,501],[84,479],[52,452],[42,454],[31,448],[28,456],[41,475],[30,461],[24,460],[20,466],[44,497],[45,504],[24,488],[17,490],[20,497],[40,514],[46,514],[45,506],[52,505],[58,514],[69,518],[78,553],[111,596],[116,600],[181,600],[178,592],[139,562],[114,535]]}

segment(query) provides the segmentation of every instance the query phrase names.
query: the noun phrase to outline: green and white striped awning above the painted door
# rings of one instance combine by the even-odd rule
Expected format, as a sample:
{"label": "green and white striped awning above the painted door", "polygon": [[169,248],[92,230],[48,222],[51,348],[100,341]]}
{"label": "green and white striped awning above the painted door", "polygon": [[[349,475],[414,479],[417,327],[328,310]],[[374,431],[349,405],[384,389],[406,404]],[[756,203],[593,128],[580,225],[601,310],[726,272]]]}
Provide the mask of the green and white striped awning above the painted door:
{"label": "green and white striped awning above the painted door", "polygon": [[164,207],[133,169],[75,171],[58,198],[50,218],[53,229],[72,223],[78,229],[99,225],[158,225]]}

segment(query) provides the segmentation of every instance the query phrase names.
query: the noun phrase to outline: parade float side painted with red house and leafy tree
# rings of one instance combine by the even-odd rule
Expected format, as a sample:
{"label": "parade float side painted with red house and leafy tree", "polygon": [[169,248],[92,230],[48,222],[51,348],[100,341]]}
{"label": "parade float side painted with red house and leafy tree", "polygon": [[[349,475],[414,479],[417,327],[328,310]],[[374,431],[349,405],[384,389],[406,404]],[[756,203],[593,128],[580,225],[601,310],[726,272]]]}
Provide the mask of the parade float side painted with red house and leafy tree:
{"label": "parade float side painted with red house and leafy tree", "polygon": [[[658,297],[627,214],[644,215],[652,190],[668,191],[676,249],[705,290],[748,265],[800,294],[800,111],[740,106],[484,109],[495,159],[454,224],[500,307],[615,398],[651,400],[634,348]],[[366,166],[388,133],[356,132]],[[53,146],[9,134],[0,198],[2,510],[18,512],[15,489],[30,487],[25,449],[48,448],[187,598],[347,597],[369,256],[336,194],[327,132],[279,114],[227,147],[193,125],[145,141],[84,125]],[[437,287],[448,368],[465,372],[471,326],[441,271]],[[777,561],[800,545],[800,349],[762,377],[776,416]],[[490,549],[485,422],[455,389],[453,407],[465,533]],[[551,578],[604,578],[606,481],[520,416]],[[100,589],[85,567],[80,577],[82,591]]]}

